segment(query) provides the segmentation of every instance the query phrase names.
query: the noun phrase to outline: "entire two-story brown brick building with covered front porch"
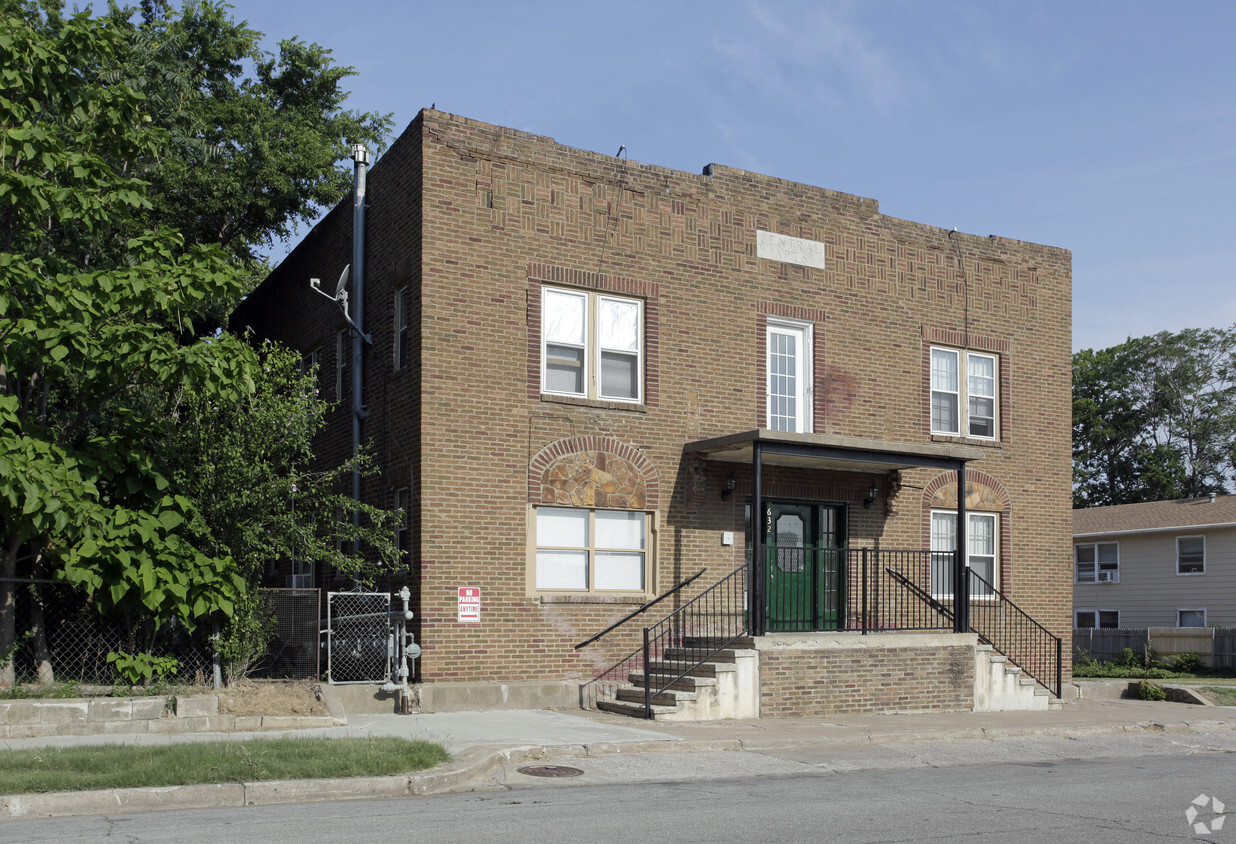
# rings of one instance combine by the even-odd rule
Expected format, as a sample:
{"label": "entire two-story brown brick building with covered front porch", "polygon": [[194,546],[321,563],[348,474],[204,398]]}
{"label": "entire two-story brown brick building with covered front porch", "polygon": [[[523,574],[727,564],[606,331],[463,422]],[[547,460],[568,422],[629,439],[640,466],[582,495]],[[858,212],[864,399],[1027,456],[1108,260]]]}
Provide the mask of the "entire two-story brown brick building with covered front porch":
{"label": "entire two-story brown brick building with covered front porch", "polygon": [[[366,190],[361,494],[408,513],[426,708],[576,701],[748,560],[721,614],[765,714],[984,706],[967,566],[970,624],[1070,629],[1068,251],[433,110]],[[352,332],[309,279],[352,232],[344,201],[232,320],[318,362],[324,460]]]}

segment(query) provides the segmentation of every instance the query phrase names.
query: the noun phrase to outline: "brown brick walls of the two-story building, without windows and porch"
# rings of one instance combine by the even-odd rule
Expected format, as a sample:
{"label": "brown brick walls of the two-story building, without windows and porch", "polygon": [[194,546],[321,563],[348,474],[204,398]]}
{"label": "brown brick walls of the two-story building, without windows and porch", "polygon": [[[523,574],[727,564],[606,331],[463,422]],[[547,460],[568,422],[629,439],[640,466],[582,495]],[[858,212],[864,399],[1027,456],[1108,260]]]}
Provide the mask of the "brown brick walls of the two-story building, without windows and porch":
{"label": "brown brick walls of the two-story building, without windows and porch", "polygon": [[[1069,631],[1067,251],[907,222],[871,199],[758,173],[671,171],[430,110],[372,168],[368,203],[363,436],[382,475],[362,494],[393,505],[410,491],[419,681],[587,680],[630,652],[638,630],[583,651],[576,643],[701,568],[703,586],[743,562],[750,467],[686,458],[684,445],[768,426],[765,326],[777,319],[811,326],[816,433],[983,450],[973,466],[999,491],[999,586],[1051,630]],[[822,245],[826,268],[760,257],[758,231]],[[320,348],[332,373],[342,320],[308,279],[332,279],[350,260],[345,201],[234,324]],[[640,303],[639,402],[543,392],[546,287]],[[400,288],[412,337],[396,371]],[[931,433],[933,345],[997,358],[995,439]],[[346,454],[349,416],[334,411],[324,460]],[[648,514],[643,589],[536,588],[536,508],[569,499],[554,497],[555,461],[572,467],[555,476],[561,484],[597,472],[572,482],[580,496],[601,494],[591,507]],[[730,472],[737,489],[722,500]],[[938,476],[902,472],[894,500],[864,509],[870,475],[769,467],[764,494],[845,505],[852,546],[922,549]],[[722,531],[738,539],[724,545]],[[480,624],[456,620],[460,586],[481,588]],[[881,659],[902,672],[918,656]],[[861,688],[885,699],[879,682]]]}

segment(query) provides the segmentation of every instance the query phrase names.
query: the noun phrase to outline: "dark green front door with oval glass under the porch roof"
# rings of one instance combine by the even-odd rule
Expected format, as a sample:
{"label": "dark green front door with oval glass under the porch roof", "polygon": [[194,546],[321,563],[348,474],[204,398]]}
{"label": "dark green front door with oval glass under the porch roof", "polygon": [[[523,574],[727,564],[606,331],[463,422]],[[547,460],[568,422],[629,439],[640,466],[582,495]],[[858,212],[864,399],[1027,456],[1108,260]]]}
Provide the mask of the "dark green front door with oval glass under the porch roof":
{"label": "dark green front door with oval glass under the porch roof", "polygon": [[770,500],[763,521],[769,631],[839,629],[844,507]]}

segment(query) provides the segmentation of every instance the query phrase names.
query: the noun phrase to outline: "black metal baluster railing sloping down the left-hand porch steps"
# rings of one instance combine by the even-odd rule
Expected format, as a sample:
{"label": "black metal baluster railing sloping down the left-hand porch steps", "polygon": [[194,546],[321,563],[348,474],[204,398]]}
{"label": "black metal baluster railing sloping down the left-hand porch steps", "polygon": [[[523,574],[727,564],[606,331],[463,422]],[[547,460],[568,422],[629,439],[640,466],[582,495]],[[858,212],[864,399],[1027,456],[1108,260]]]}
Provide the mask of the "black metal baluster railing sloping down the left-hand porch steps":
{"label": "black metal baluster railing sloping down the left-hand porch steps", "polygon": [[671,686],[747,634],[747,566],[644,628],[644,717]]}

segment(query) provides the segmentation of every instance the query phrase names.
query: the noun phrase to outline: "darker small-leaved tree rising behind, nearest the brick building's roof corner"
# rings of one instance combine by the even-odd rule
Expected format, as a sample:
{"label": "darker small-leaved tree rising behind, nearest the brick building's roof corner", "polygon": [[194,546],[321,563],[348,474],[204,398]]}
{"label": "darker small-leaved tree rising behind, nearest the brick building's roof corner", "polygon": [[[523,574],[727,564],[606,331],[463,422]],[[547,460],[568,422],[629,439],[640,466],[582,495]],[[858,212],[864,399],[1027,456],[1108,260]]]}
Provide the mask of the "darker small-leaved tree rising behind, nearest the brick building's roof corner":
{"label": "darker small-leaved tree rising behind, nearest the brick building's roof corner", "polygon": [[154,219],[245,264],[346,195],[341,153],[381,148],[392,121],[342,108],[353,70],[330,51],[290,38],[269,53],[230,9],[145,0],[140,14],[112,4],[108,20],[126,32],[125,80],[168,132],[162,154],[140,168]]}

